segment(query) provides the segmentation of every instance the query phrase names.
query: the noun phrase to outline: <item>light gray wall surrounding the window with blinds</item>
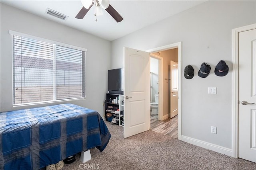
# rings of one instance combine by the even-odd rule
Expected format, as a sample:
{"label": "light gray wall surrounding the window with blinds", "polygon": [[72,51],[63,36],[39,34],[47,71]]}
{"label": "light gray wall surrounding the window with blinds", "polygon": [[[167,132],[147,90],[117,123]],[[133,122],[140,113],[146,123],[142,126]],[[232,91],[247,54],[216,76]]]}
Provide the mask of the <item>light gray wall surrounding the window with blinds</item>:
{"label": "light gray wall surrounding the window with blinds", "polygon": [[[88,107],[104,115],[103,102],[107,92],[110,69],[110,41],[46,20],[16,8],[1,4],[1,58],[0,58],[0,110],[9,111],[28,107],[12,106],[12,36],[9,30],[26,33],[61,43],[86,48],[86,99],[68,103]],[[98,50],[100,47],[100,50]],[[61,104],[56,102],[52,104]],[[65,102],[67,103],[67,102]]]}

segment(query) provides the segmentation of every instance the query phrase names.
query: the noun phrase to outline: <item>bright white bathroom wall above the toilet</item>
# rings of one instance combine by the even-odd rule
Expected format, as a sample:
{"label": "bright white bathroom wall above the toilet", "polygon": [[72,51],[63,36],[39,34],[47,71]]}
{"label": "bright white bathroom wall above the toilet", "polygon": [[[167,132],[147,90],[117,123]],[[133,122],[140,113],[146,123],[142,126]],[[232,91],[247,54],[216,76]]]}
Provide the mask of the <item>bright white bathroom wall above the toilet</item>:
{"label": "bright white bathroom wall above the toilet", "polygon": [[151,102],[155,101],[155,94],[158,94],[158,59],[150,57],[150,72],[151,72]]}

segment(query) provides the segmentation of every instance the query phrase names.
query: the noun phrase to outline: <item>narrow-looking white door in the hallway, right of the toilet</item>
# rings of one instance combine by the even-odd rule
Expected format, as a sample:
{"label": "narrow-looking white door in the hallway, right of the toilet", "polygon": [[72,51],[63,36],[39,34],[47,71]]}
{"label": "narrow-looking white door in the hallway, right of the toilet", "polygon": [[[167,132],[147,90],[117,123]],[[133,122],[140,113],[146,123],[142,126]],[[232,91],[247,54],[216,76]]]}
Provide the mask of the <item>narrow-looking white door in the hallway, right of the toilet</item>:
{"label": "narrow-looking white door in the hallway, right of the toilet", "polygon": [[170,98],[171,98],[171,104],[170,104],[170,117],[174,117],[178,114],[178,63],[175,63],[174,61],[170,62],[170,74],[171,74],[171,84],[170,84]]}

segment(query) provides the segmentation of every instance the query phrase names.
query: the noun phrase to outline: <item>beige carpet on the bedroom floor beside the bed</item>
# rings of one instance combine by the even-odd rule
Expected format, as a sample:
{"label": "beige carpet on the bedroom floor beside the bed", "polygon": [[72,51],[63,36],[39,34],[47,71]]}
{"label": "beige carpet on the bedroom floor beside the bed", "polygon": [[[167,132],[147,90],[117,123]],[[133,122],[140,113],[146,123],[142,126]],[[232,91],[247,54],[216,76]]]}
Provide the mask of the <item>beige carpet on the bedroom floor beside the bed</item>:
{"label": "beige carpet on the bedroom floor beside the bed", "polygon": [[123,138],[123,127],[106,122],[112,135],[103,152],[91,149],[92,159],[80,155],[63,170],[256,170],[256,164],[147,131]]}

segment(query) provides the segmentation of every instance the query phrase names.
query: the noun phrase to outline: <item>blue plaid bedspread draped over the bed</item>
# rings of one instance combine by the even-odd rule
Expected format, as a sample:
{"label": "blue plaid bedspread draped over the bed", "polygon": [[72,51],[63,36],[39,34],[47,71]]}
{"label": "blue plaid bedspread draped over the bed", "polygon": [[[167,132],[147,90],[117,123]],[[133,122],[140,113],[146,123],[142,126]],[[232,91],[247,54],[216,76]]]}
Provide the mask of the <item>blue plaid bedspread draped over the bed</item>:
{"label": "blue plaid bedspread draped over the bed", "polygon": [[1,170],[38,170],[82,150],[103,151],[110,133],[100,114],[73,104],[0,113]]}

